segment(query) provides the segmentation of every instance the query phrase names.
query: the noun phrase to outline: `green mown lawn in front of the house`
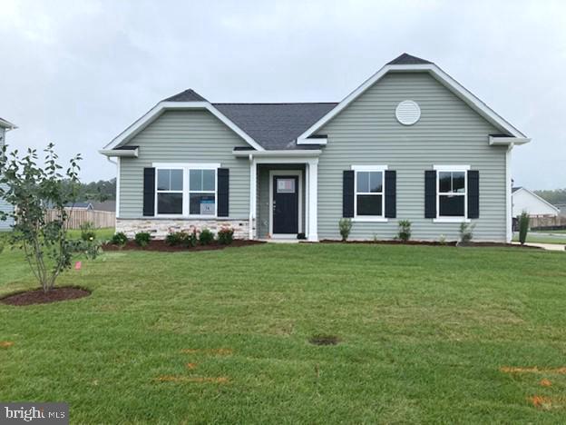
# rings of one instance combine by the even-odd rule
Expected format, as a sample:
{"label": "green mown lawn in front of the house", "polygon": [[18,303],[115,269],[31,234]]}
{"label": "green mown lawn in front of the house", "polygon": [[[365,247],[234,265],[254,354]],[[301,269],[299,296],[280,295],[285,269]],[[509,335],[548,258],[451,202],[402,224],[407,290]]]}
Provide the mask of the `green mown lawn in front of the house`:
{"label": "green mown lawn in front of the house", "polygon": [[[20,253],[0,264],[0,293],[34,287]],[[72,423],[566,421],[562,252],[109,252],[60,284],[93,294],[0,304],[0,400],[64,400]]]}

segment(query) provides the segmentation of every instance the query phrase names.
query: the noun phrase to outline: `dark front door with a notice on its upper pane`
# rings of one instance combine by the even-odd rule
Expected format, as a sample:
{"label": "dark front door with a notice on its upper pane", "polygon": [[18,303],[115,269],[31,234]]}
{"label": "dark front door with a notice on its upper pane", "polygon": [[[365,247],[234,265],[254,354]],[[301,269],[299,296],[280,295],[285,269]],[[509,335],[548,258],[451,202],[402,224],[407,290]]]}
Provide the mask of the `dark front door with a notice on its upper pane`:
{"label": "dark front door with a notice on its upper pane", "polygon": [[273,233],[298,233],[298,176],[273,176]]}

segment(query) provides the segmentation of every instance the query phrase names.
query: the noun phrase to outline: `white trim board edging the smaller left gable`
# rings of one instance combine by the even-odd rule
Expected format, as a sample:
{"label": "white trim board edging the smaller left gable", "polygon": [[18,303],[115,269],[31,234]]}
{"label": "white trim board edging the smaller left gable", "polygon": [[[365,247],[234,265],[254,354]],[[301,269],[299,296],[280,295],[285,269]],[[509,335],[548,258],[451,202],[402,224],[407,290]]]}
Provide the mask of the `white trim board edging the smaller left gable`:
{"label": "white trim board edging the smaller left gable", "polygon": [[163,112],[171,110],[206,110],[210,114],[216,116],[222,123],[226,124],[230,130],[237,133],[244,141],[258,151],[264,151],[264,148],[249,137],[238,125],[234,124],[229,118],[216,109],[210,102],[160,102],[151,108],[146,114],[142,115],[138,120],[126,128],[122,133],[118,134],[111,143],[104,146],[104,151],[115,149],[128,143],[132,138],[140,133],[145,127],[155,121]]}

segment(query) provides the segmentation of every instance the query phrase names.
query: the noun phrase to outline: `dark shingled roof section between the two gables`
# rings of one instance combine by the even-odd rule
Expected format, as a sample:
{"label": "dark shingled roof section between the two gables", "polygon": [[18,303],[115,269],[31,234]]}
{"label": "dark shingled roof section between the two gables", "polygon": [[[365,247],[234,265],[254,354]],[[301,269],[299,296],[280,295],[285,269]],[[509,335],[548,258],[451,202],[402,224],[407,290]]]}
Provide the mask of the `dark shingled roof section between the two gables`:
{"label": "dark shingled roof section between the two gables", "polygon": [[[297,137],[337,104],[214,104],[267,150],[313,149]],[[315,146],[317,148],[317,146]]]}

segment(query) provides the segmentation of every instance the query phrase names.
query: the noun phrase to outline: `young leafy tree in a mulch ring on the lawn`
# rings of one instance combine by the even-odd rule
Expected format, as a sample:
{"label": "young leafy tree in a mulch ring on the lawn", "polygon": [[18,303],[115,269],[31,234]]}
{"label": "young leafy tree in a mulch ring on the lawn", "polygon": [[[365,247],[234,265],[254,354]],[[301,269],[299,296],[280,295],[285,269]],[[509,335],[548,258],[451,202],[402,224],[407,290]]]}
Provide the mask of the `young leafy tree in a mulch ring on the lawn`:
{"label": "young leafy tree in a mulch ring on the lawn", "polygon": [[[0,198],[14,205],[13,213],[1,213],[0,219],[14,218],[10,242],[22,248],[35,278],[44,292],[54,287],[63,270],[71,267],[72,246],[67,241],[68,213],[65,204],[76,200],[81,155],[63,166],[57,163],[54,144],[44,150],[44,165],[38,164],[37,151],[28,149],[20,157],[18,151],[0,152]],[[67,183],[64,183],[64,180]],[[70,184],[69,184],[70,183]],[[55,210],[54,220],[47,221],[47,209]]]}

